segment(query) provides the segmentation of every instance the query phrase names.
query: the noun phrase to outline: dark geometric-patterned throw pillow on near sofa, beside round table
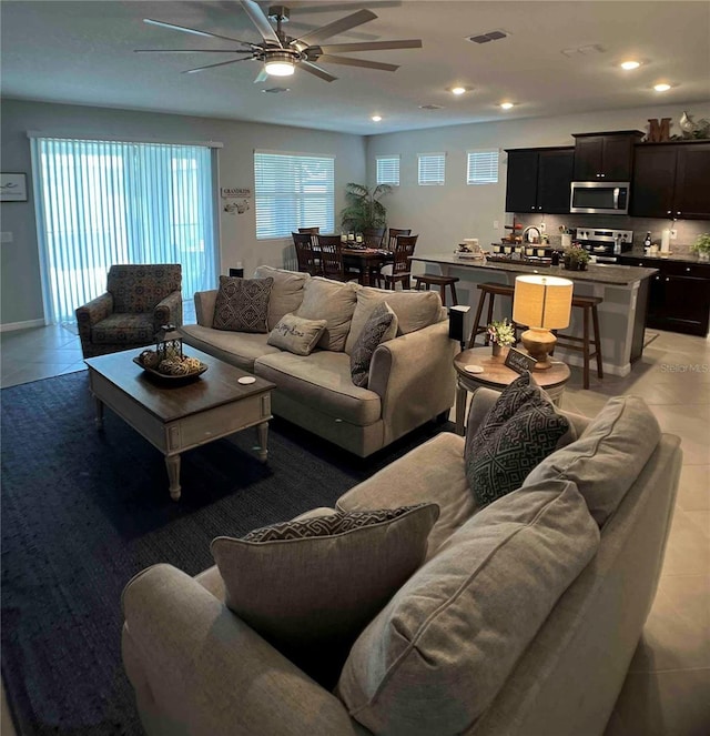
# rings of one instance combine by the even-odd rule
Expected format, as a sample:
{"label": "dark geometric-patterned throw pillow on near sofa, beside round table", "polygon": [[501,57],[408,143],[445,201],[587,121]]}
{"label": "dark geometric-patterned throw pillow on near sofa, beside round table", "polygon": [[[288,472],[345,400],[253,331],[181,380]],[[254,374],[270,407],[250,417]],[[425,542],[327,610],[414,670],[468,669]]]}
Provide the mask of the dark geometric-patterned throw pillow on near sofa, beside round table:
{"label": "dark geometric-patterned throw pillow on near sofa, beside round table", "polygon": [[500,394],[474,434],[466,477],[479,507],[523,485],[528,474],[557,447],[569,422],[530,385],[529,374]]}

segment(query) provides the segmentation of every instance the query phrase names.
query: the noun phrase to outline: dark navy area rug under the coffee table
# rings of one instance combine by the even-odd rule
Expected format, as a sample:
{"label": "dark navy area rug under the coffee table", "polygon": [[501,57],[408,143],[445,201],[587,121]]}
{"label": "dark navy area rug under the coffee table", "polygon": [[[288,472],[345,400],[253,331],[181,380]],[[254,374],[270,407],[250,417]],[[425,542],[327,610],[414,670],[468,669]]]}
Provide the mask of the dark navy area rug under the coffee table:
{"label": "dark navy area rug under the coffee table", "polygon": [[121,665],[123,586],[144,567],[194,575],[210,542],[333,505],[347,488],[450,424],[428,424],[362,461],[274,420],[183,455],[170,500],[162,455],[112,412],[93,425],[85,371],[4,389],[2,677],[21,735],[141,734]]}

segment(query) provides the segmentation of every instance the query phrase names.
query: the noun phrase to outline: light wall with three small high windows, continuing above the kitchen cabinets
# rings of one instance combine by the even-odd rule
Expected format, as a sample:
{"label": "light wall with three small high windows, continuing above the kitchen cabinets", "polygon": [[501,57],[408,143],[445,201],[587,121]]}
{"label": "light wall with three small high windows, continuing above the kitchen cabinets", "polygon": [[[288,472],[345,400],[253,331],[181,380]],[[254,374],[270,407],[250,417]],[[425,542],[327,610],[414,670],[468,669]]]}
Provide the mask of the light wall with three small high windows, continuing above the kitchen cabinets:
{"label": "light wall with three small high windows, continuing above the kitchen cabinets", "polygon": [[[710,102],[696,105],[689,112],[696,120],[710,118]],[[478,238],[481,245],[487,245],[499,242],[506,234],[503,228],[506,222],[511,223],[513,216],[505,213],[507,157],[504,149],[574,145],[572,133],[646,132],[649,118],[671,118],[671,134],[680,134],[681,114],[679,108],[653,107],[374,135],[367,139],[367,171],[369,180],[374,181],[376,157],[399,154],[400,185],[383,200],[389,224],[410,228],[413,233],[419,234],[418,254],[450,252],[463,238]],[[467,185],[467,151],[496,148],[501,151],[498,183]],[[417,154],[433,152],[446,152],[446,184],[419,186]],[[494,229],[494,221],[498,221],[499,230]]]}

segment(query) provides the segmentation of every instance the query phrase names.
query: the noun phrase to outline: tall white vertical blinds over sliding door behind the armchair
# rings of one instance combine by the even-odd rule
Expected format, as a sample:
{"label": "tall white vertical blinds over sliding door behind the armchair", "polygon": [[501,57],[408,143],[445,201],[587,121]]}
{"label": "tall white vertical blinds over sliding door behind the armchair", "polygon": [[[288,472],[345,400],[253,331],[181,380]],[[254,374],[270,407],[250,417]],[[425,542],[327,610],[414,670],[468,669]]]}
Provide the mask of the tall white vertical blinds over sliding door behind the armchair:
{"label": "tall white vertical blinds over sliding door behind the armchair", "polygon": [[183,294],[216,282],[207,147],[32,138],[51,322],[105,291],[114,263],[180,263]]}

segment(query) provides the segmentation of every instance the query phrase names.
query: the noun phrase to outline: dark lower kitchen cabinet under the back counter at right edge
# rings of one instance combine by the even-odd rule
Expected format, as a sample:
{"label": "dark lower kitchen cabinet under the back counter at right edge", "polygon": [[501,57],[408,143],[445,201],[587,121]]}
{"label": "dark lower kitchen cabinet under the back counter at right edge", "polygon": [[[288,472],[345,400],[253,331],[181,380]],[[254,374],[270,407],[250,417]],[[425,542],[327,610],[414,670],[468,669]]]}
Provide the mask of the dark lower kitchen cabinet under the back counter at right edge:
{"label": "dark lower kitchen cabinet under the back counter at right edge", "polygon": [[620,263],[658,269],[649,282],[646,326],[704,336],[710,323],[710,265],[622,255]]}

